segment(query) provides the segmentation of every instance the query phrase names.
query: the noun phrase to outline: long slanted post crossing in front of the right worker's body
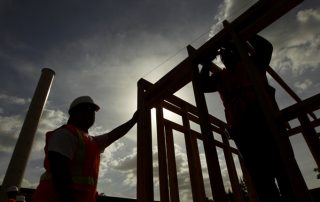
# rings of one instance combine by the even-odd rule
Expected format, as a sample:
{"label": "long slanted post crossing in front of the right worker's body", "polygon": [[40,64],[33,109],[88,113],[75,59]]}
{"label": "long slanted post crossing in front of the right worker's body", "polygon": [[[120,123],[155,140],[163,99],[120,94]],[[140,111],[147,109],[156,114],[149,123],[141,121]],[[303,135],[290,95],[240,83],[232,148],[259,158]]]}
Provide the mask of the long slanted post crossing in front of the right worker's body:
{"label": "long slanted post crossing in front of the right worker's body", "polygon": [[285,130],[281,127],[281,123],[278,122],[279,120],[277,119],[277,117],[279,117],[279,115],[276,112],[276,108],[271,105],[271,102],[269,102],[269,97],[264,88],[264,85],[259,79],[260,76],[257,72],[258,69],[255,67],[251,58],[249,57],[246,51],[246,45],[241,41],[237,33],[233,31],[231,25],[227,21],[224,21],[223,24],[225,29],[230,32],[240,53],[240,57],[243,60],[244,64],[246,64],[243,66],[244,70],[248,74],[250,80],[255,84],[253,85],[255,93],[258,97],[260,107],[267,120],[267,124],[271,131],[272,137],[277,144],[277,153],[279,153],[282,160],[281,169],[285,170],[285,173],[287,174],[286,177],[291,184],[291,187],[289,187],[289,189],[292,190],[292,194],[294,194],[293,197],[296,199],[296,201],[311,202],[312,199],[310,193],[294,158],[289,139],[285,135]]}

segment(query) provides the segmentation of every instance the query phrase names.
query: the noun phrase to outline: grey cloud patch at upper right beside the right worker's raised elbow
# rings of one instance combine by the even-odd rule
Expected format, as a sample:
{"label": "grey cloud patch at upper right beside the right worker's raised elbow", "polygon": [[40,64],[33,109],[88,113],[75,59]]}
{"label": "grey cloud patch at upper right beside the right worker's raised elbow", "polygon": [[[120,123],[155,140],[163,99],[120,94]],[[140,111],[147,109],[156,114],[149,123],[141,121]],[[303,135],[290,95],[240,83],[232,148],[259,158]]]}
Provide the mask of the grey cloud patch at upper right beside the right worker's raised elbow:
{"label": "grey cloud patch at upper right beside the right worker's raised elbow", "polygon": [[[318,93],[320,85],[320,8],[314,7],[297,7],[263,32],[274,45],[271,66],[302,98]],[[285,96],[278,100],[286,103]]]}

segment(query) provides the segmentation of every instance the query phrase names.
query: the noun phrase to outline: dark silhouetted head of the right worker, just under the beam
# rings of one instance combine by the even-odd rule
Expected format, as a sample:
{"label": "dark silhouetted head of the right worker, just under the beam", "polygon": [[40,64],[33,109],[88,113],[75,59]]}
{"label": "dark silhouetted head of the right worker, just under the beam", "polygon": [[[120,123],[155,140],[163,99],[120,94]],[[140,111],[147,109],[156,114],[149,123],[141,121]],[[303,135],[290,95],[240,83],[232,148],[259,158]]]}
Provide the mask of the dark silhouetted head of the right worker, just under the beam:
{"label": "dark silhouetted head of the right worker, just under the beam", "polygon": [[228,43],[221,47],[218,53],[226,68],[234,68],[235,65],[240,61],[239,53],[233,43]]}

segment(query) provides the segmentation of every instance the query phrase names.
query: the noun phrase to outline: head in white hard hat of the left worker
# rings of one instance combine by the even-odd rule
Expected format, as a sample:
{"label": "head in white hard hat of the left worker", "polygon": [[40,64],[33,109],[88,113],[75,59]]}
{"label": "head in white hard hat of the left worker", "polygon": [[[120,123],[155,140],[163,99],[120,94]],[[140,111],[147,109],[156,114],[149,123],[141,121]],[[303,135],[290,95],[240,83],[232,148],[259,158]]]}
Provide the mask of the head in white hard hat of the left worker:
{"label": "head in white hard hat of the left worker", "polygon": [[94,124],[95,112],[100,107],[94,103],[93,99],[89,96],[81,96],[76,98],[69,108],[69,121],[80,129],[88,131],[88,129]]}

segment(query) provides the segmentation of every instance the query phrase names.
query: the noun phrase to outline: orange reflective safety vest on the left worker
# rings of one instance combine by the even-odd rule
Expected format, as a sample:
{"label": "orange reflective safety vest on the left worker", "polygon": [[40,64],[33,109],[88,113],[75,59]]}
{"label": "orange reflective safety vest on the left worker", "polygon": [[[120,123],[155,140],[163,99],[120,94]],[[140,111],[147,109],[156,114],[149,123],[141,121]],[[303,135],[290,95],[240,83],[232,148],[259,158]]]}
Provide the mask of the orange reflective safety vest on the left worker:
{"label": "orange reflective safety vest on the left worker", "polygon": [[[77,149],[71,159],[70,170],[73,181],[73,195],[76,202],[95,202],[96,187],[100,164],[100,151],[96,141],[75,126],[63,125],[78,139]],[[51,171],[48,160],[48,140],[54,131],[46,134],[46,146],[44,168],[45,173],[41,175],[40,184],[37,187],[33,202],[57,202],[57,194],[54,191]]]}

